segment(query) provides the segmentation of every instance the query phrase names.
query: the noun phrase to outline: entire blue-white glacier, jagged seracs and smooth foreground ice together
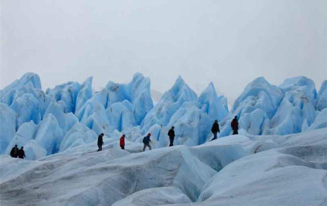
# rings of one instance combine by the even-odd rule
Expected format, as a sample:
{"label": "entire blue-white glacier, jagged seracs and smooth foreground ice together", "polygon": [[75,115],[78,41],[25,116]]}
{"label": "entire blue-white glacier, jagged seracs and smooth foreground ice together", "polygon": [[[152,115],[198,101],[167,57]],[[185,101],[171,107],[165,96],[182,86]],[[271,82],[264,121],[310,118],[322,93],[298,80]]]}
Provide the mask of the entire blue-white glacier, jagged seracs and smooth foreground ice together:
{"label": "entire blue-white glacier, jagged seracs and smooth foreground ice together", "polygon": [[[327,81],[317,91],[302,76],[278,86],[259,77],[230,111],[212,82],[198,95],[179,76],[155,105],[140,73],[99,91],[92,82],[43,91],[27,73],[0,90],[2,205],[327,204]],[[142,152],[147,133],[153,149]],[[9,156],[16,144],[25,159]]]}

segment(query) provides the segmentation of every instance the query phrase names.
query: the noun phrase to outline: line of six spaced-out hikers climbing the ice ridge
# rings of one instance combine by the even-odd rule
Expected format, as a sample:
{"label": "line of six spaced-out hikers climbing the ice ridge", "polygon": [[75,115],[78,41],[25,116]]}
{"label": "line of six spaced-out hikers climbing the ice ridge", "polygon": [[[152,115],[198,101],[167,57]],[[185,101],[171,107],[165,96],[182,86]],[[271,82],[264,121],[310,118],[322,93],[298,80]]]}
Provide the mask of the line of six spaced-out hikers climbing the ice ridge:
{"label": "line of six spaced-out hikers climbing the ice ridge", "polygon": [[[234,119],[231,121],[230,123],[230,127],[233,130],[233,135],[237,135],[238,134],[238,121],[237,121],[237,116],[234,117]],[[218,120],[215,120],[215,122],[213,123],[212,127],[211,127],[211,132],[213,134],[213,139],[215,140],[217,139],[217,133],[220,133],[219,130],[219,124],[218,124]],[[101,133],[98,137],[98,152],[102,151],[102,145],[103,145],[103,136],[104,134]],[[151,150],[151,145],[150,145],[150,136],[151,133],[148,133],[144,138],[143,138],[143,152],[145,151],[145,149],[148,147],[149,150]],[[169,147],[174,146],[174,140],[175,140],[175,127],[173,126],[169,131],[168,131],[168,136],[169,136]],[[212,141],[210,140],[210,141]],[[121,136],[121,138],[119,139],[119,146],[121,149],[125,150],[125,134],[123,134],[123,136]]]}

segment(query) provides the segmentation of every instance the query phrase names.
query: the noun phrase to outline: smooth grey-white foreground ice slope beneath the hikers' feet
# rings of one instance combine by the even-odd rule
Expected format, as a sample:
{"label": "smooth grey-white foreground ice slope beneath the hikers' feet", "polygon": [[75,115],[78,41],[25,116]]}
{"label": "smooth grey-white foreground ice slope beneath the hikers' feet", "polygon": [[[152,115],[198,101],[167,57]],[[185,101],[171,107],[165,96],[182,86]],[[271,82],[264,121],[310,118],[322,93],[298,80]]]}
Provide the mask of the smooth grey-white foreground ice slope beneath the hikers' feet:
{"label": "smooth grey-white foreground ice slope beneath the hikers' feet", "polygon": [[1,205],[327,205],[327,128],[140,152],[110,141],[39,160],[0,156]]}

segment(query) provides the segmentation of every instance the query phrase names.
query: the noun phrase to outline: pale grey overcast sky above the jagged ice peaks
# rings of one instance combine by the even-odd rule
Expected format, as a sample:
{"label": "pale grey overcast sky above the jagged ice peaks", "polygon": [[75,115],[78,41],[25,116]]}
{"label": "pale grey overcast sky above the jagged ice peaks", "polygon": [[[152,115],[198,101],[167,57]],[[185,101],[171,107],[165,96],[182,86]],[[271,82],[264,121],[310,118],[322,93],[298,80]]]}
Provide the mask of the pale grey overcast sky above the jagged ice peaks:
{"label": "pale grey overcast sky above the jagged ice peaks", "polygon": [[235,99],[264,76],[327,78],[326,0],[1,1],[1,88],[25,72],[42,87],[94,77],[169,89],[178,75]]}

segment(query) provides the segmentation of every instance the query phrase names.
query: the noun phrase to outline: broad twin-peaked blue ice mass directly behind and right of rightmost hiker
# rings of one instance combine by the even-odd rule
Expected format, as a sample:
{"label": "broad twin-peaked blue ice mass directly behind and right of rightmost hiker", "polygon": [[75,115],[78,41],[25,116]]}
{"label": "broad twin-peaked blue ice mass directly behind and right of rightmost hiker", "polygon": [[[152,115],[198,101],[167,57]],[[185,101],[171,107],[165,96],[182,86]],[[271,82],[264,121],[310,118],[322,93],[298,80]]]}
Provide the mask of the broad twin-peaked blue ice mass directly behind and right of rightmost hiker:
{"label": "broad twin-peaked blue ice mass directly behind and right of rightmost hiker", "polygon": [[249,83],[235,100],[233,109],[221,121],[220,137],[231,133],[233,116],[239,120],[239,134],[284,135],[307,130],[316,118],[314,82],[303,76],[286,79],[280,86],[263,77]]}

